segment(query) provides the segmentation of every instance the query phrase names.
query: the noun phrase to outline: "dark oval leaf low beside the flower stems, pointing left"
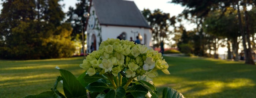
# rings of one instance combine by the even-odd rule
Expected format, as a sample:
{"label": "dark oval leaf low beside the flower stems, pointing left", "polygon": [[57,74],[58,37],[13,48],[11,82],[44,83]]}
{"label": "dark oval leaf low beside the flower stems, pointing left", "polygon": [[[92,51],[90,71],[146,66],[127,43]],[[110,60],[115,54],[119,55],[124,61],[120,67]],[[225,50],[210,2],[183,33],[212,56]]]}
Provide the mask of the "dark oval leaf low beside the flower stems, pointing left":
{"label": "dark oval leaf low beside the flower stems, pointing left", "polygon": [[93,83],[90,83],[88,86],[86,86],[86,88],[92,92],[101,92],[111,87],[108,86],[108,84],[103,82],[93,82]]}

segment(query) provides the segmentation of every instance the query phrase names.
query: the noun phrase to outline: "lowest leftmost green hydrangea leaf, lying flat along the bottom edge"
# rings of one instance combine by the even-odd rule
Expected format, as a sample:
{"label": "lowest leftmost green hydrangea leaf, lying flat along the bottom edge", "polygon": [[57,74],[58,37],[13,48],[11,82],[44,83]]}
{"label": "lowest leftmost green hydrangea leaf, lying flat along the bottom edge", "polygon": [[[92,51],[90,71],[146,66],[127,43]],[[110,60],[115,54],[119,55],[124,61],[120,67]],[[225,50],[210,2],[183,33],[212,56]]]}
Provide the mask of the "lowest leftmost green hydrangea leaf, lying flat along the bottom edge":
{"label": "lowest leftmost green hydrangea leaf, lying flat along the bottom edge", "polygon": [[53,96],[53,91],[46,91],[38,95],[27,95],[26,97],[23,97],[23,98],[54,98],[54,96]]}

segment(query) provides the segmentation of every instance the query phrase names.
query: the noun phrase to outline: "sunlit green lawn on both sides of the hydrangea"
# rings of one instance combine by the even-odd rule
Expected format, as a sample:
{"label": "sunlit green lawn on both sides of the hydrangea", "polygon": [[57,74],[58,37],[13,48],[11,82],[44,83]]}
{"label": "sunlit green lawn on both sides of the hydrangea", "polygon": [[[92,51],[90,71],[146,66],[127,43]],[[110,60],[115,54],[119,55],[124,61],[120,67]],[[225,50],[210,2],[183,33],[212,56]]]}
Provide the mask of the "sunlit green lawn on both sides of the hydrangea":
{"label": "sunlit green lawn on both sides of the hydrangea", "polygon": [[[171,75],[159,71],[159,90],[172,87],[186,98],[256,98],[256,65],[216,59],[164,57]],[[56,66],[78,76],[83,57],[48,60],[0,60],[0,98],[21,98],[49,91],[60,75]],[[61,85],[59,85],[61,88]],[[59,89],[60,90],[60,89]]]}

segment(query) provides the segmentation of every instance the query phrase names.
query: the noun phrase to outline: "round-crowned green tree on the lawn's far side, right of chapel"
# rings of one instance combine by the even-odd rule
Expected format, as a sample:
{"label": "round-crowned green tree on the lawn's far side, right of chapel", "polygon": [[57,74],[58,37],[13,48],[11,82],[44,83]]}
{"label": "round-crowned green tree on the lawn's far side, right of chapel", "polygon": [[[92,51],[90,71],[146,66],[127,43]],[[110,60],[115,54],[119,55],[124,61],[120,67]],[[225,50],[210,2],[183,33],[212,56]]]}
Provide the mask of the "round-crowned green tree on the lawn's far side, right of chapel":
{"label": "round-crowned green tree on the lawn's far side, right of chapel", "polygon": [[203,23],[203,29],[206,33],[213,34],[218,37],[227,38],[228,59],[231,59],[230,42],[233,46],[235,60],[238,61],[238,40],[240,36],[237,25],[237,11],[231,7],[227,8],[222,14],[220,10],[209,12]]}

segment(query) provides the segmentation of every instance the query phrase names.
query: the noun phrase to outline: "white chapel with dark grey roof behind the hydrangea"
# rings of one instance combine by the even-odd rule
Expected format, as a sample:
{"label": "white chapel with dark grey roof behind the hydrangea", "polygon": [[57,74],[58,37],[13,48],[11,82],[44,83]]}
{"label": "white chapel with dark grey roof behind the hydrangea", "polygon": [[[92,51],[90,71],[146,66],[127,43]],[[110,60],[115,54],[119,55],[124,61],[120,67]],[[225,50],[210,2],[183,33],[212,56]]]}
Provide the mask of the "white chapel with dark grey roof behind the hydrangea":
{"label": "white chapel with dark grey roof behind the hydrangea", "polygon": [[151,27],[133,1],[91,0],[89,10],[87,53],[99,49],[102,41],[118,36],[133,41],[138,36],[141,44],[152,46]]}

